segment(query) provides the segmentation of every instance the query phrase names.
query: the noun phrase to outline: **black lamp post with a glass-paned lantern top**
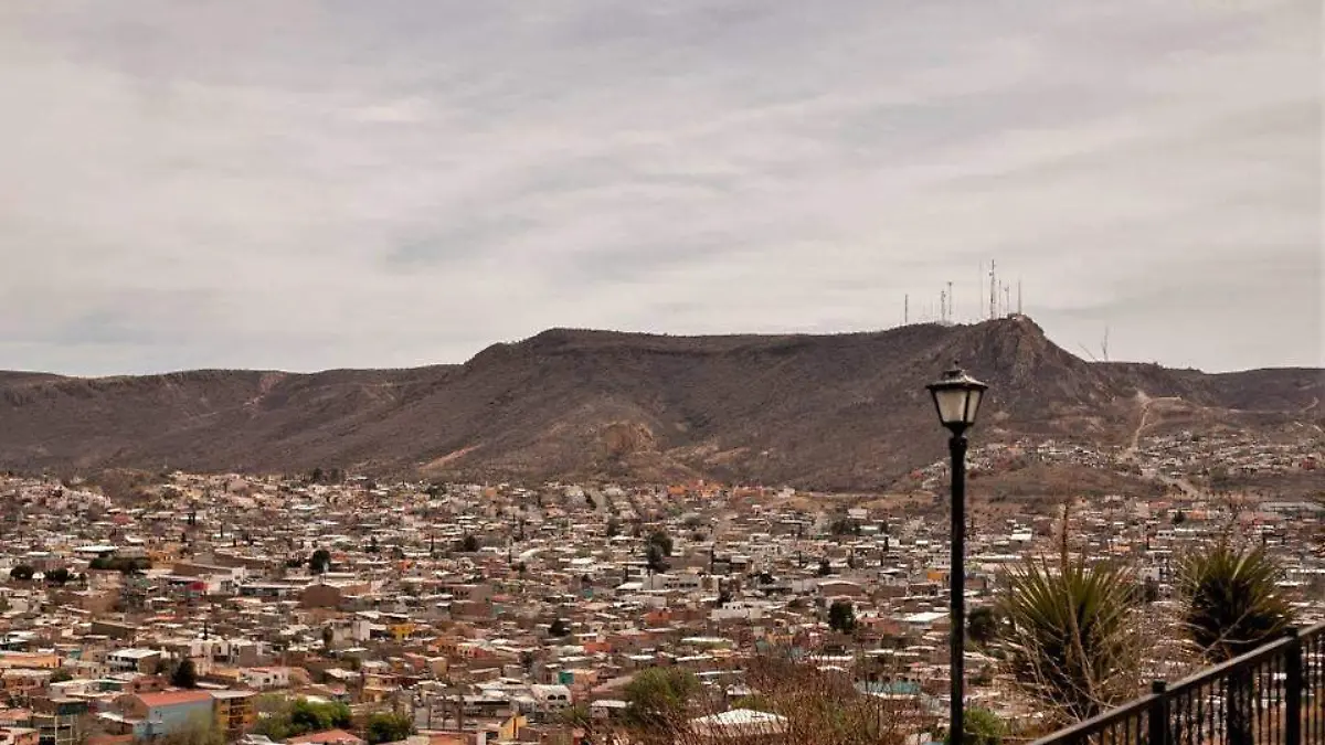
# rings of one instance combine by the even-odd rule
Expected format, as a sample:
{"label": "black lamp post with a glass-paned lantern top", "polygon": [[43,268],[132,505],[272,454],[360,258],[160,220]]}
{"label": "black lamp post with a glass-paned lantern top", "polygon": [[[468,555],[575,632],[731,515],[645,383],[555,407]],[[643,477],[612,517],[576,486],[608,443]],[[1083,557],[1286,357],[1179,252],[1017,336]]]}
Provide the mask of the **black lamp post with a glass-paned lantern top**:
{"label": "black lamp post with a glass-paned lantern top", "polygon": [[938,420],[953,436],[947,440],[953,456],[953,562],[947,583],[951,589],[951,704],[949,705],[949,745],[962,745],[966,734],[965,652],[966,652],[966,430],[975,424],[980,399],[988,388],[953,363],[953,369],[928,386],[934,396]]}

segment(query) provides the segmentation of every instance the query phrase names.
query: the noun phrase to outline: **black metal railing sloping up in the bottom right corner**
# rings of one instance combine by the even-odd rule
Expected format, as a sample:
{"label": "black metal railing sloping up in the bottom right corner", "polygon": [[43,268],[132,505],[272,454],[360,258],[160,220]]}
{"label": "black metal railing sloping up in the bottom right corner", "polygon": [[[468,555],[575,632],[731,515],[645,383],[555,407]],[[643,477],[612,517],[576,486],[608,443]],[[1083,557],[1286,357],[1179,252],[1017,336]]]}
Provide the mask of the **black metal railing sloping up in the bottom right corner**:
{"label": "black metal railing sloping up in the bottom right corner", "polygon": [[1034,745],[1325,745],[1325,623]]}

